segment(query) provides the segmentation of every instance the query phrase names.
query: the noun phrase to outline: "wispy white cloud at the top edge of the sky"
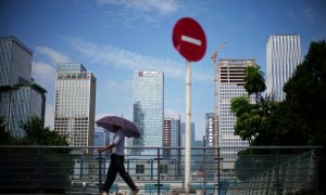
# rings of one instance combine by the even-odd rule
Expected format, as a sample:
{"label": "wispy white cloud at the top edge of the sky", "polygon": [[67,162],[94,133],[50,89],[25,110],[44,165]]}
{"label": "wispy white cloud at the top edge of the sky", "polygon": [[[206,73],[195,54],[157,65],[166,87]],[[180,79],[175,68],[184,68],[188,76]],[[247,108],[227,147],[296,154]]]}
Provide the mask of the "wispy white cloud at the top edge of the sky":
{"label": "wispy white cloud at the top edge of the sky", "polygon": [[178,4],[175,0],[98,0],[102,5],[121,5],[126,10],[141,13],[158,13],[166,15],[177,12]]}

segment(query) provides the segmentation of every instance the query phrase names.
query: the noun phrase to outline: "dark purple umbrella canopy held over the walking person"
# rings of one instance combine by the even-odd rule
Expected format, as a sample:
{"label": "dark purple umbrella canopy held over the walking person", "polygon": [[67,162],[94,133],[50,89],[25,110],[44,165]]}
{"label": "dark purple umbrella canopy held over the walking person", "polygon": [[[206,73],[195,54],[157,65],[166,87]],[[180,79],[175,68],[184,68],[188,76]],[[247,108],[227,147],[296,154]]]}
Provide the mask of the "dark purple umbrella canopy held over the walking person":
{"label": "dark purple umbrella canopy held over the walking person", "polygon": [[126,136],[128,138],[140,138],[138,128],[128,119],[117,116],[105,116],[96,121],[96,123],[108,131],[114,132],[112,126],[118,126]]}

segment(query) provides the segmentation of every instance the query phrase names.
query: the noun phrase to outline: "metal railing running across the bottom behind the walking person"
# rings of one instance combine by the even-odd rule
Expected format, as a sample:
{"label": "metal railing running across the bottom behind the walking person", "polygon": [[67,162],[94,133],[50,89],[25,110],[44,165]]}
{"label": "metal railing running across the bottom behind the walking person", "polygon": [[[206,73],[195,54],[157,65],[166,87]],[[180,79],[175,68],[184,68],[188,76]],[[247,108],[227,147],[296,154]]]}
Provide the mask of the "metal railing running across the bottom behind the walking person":
{"label": "metal railing running across the bottom behind the walking person", "polygon": [[[0,194],[98,194],[110,154],[96,147],[1,146]],[[141,151],[135,155],[133,151]],[[220,150],[220,156],[215,156]],[[191,192],[296,194],[317,192],[321,147],[192,147]],[[140,194],[184,188],[184,147],[127,147],[125,168]],[[130,190],[117,177],[111,192]]]}

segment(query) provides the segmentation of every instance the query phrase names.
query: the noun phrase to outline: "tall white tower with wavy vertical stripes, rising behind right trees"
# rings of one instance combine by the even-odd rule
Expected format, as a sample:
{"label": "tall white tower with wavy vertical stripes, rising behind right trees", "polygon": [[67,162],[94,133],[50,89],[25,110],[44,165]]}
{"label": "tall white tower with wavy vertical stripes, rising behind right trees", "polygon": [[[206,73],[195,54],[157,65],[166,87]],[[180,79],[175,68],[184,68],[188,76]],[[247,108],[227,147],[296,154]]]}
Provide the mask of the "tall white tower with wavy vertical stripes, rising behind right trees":
{"label": "tall white tower with wavy vertical stripes, rising behind right trees", "polygon": [[300,36],[272,35],[266,47],[266,92],[274,94],[276,101],[283,101],[283,87],[301,63]]}

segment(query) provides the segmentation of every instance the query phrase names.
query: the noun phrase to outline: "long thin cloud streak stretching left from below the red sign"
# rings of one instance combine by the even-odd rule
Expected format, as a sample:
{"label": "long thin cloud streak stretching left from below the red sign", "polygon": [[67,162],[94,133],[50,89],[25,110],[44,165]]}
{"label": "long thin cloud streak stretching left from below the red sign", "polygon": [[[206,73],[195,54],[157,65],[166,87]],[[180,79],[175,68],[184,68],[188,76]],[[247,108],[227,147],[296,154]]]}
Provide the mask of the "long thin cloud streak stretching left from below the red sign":
{"label": "long thin cloud streak stretching left from below the red sign", "polygon": [[[80,38],[70,39],[71,44],[83,56],[88,57],[95,64],[109,64],[125,69],[160,69],[164,76],[183,79],[185,78],[185,64],[179,64],[168,58],[158,58],[137,52],[124,50],[113,46],[102,46],[85,41]],[[199,81],[211,81],[211,75],[200,72],[192,73],[192,78]]]}

